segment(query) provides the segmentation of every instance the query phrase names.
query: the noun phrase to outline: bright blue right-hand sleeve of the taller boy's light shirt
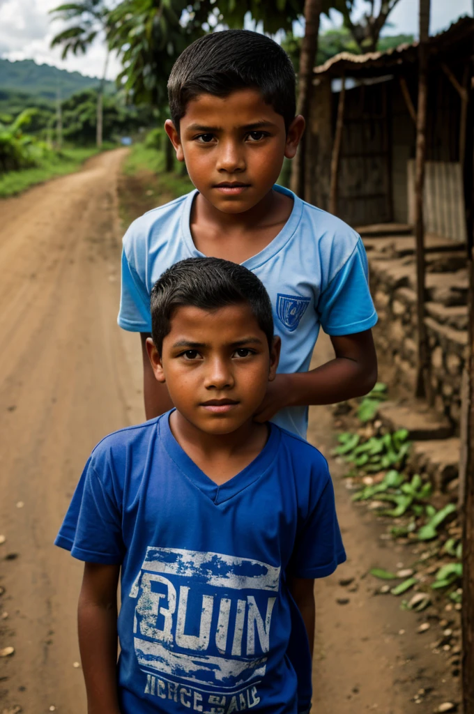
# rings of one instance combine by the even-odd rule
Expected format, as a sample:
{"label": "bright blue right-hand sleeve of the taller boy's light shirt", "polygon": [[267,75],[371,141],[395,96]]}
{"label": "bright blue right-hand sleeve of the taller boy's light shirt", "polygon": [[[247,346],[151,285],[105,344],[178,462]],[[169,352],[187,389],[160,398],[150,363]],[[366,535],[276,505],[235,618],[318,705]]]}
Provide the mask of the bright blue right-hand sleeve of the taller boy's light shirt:
{"label": "bright blue right-hand sleeve of the taller boy's light shirt", "polygon": [[317,311],[328,335],[363,332],[377,322],[368,286],[367,256],[360,238],[346,263],[323,289]]}

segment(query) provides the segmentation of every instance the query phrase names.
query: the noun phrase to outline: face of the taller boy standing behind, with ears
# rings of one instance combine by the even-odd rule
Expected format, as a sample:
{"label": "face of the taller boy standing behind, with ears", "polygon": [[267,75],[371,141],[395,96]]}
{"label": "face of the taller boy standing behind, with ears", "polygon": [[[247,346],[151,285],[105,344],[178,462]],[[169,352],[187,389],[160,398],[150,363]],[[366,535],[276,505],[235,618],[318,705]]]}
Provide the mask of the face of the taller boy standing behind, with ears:
{"label": "face of the taller boy standing behind, with ears", "polygon": [[297,116],[288,129],[281,114],[256,89],[226,97],[201,94],[188,103],[179,134],[173,122],[166,132],[194,186],[224,213],[243,213],[271,190],[283,164],[292,159],[304,129]]}

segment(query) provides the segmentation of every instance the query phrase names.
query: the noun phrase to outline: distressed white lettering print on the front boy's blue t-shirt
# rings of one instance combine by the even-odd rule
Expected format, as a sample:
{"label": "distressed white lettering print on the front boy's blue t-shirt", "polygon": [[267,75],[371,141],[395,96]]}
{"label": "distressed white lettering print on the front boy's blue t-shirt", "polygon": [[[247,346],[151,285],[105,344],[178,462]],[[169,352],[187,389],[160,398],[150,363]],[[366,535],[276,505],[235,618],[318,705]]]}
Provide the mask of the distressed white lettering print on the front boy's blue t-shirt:
{"label": "distressed white lettering print on the front boy's blue t-shirt", "polygon": [[148,547],[130,591],[145,692],[216,714],[255,706],[279,578],[260,560]]}

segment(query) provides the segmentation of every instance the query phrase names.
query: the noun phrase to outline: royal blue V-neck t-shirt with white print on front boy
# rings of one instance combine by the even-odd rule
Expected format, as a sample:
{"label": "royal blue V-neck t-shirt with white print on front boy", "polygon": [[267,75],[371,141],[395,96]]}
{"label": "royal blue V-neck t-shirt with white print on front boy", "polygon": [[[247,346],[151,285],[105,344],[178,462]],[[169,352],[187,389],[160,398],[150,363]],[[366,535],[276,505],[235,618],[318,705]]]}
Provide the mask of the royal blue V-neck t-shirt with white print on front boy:
{"label": "royal blue V-neck t-shirt with white print on front boy", "polygon": [[96,446],[56,538],[80,560],[121,564],[121,711],[307,710],[308,638],[286,578],[346,559],[326,460],[271,425],[256,459],[217,486],[169,414]]}

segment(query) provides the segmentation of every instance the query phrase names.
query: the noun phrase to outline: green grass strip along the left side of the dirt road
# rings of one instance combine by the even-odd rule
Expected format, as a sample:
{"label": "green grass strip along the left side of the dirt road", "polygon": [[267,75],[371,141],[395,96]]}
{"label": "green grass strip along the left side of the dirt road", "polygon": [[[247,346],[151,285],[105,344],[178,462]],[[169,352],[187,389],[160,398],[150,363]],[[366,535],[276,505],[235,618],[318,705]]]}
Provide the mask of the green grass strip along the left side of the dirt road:
{"label": "green grass strip along the left side of the dirt road", "polygon": [[[111,147],[107,146],[106,148]],[[15,193],[21,193],[26,188],[34,186],[35,183],[48,181],[53,176],[71,174],[80,169],[86,159],[98,153],[99,150],[95,146],[68,148],[61,151],[60,155],[56,154],[51,159],[44,159],[39,166],[0,174],[0,198],[14,196]]]}

